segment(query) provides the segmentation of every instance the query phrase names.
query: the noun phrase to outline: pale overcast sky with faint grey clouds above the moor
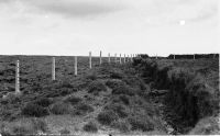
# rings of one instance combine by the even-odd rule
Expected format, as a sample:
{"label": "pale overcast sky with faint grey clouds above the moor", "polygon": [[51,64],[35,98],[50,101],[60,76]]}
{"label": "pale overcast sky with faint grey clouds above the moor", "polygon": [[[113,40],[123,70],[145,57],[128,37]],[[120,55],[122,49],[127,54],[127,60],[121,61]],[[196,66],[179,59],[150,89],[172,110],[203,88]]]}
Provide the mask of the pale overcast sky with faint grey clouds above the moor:
{"label": "pale overcast sky with faint grey clouds above the moor", "polygon": [[1,55],[218,53],[218,0],[0,0]]}

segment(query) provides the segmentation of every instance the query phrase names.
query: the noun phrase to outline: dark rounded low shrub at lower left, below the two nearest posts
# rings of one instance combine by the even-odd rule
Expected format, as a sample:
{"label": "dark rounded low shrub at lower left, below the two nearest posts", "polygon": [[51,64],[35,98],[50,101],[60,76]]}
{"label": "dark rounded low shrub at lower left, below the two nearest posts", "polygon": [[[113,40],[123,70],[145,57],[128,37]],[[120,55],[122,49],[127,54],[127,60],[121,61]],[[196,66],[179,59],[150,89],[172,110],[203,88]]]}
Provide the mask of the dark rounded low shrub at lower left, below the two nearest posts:
{"label": "dark rounded low shrub at lower left, below the two nearest posts", "polygon": [[28,103],[22,109],[21,113],[25,116],[35,116],[35,117],[41,117],[50,114],[47,109],[33,103]]}

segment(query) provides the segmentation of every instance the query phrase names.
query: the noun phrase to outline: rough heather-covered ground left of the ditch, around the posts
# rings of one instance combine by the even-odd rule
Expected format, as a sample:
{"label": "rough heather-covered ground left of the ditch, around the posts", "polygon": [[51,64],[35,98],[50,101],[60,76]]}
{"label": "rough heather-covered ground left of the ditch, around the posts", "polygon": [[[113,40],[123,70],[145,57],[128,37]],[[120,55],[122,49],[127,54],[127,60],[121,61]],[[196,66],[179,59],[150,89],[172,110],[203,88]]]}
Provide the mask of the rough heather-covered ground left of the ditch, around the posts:
{"label": "rough heather-covered ground left of the ditch, around the posts", "polygon": [[[151,89],[127,65],[98,65],[79,57],[57,57],[51,81],[51,57],[1,56],[0,131],[2,134],[167,134]],[[21,95],[14,95],[14,61],[21,61]],[[107,61],[107,59],[105,59]],[[105,61],[103,60],[103,61]]]}

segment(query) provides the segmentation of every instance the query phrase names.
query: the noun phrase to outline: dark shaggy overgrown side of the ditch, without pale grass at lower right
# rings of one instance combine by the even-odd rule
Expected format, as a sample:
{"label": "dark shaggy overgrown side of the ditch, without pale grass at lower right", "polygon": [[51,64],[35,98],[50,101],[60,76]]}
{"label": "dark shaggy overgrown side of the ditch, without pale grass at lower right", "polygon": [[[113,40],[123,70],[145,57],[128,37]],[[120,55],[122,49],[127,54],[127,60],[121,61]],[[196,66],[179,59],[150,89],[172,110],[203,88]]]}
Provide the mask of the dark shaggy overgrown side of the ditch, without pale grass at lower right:
{"label": "dark shaggy overgrown side of the ditch, without pale grass at lower right", "polygon": [[[201,66],[199,61],[202,60],[198,60],[200,69],[207,67],[206,60],[202,64],[205,66]],[[215,60],[212,61],[215,63]],[[145,82],[152,84],[152,88],[169,90],[165,102],[172,107],[173,113],[177,114],[174,124],[188,127],[194,126],[202,117],[218,114],[219,89],[209,86],[205,80],[207,75],[197,71],[196,66],[194,66],[195,69],[190,69],[190,65],[183,66],[184,63],[177,64],[175,61],[175,64],[172,64],[168,60],[154,61],[138,58],[134,59],[133,65],[142,71],[142,77]],[[209,70],[212,69],[209,68]],[[215,72],[218,72],[218,70]]]}

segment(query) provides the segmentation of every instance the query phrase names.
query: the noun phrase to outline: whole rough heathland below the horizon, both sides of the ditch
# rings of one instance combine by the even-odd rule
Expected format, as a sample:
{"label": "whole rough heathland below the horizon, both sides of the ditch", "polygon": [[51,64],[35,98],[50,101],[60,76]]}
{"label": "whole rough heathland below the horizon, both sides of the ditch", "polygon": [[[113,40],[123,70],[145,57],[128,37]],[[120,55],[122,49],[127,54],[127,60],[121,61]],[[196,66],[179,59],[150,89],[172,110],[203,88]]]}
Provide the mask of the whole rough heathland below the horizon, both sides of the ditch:
{"label": "whole rough heathland below the horizon, both sides of the ditch", "polygon": [[[22,95],[14,95],[14,61]],[[102,64],[94,58],[0,57],[1,134],[218,134],[218,60]],[[103,58],[107,61],[107,58]],[[206,124],[206,125],[205,125]]]}

